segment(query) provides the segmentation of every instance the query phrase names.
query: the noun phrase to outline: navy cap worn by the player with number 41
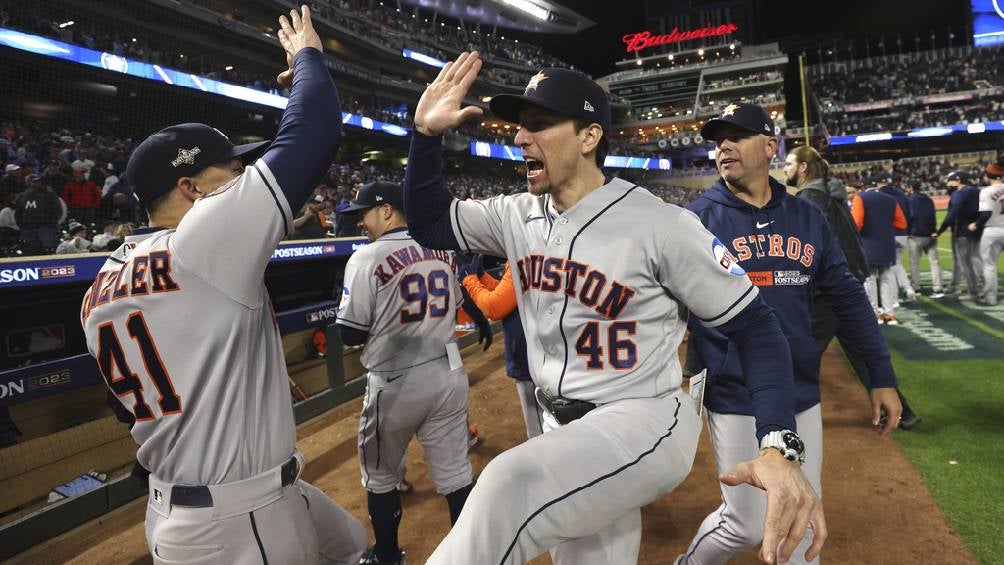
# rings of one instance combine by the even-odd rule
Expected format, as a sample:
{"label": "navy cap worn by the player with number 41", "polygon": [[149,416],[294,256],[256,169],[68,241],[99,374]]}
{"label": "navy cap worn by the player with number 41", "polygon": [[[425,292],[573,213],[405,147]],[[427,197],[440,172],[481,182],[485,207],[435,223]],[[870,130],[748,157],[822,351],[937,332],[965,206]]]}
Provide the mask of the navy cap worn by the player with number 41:
{"label": "navy cap worn by the player with number 41", "polygon": [[179,123],[147,137],[129,158],[126,176],[144,206],[168,193],[182,177],[231,159],[257,159],[270,140],[235,146],[216,127]]}

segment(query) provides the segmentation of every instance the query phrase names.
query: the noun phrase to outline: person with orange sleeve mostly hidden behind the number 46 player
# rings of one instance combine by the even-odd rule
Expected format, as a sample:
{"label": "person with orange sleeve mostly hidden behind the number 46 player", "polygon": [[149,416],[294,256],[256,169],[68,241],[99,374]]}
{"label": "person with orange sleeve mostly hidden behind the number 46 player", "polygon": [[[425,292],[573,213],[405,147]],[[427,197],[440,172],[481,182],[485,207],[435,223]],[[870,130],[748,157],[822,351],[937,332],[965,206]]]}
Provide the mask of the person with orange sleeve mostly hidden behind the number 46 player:
{"label": "person with orange sleeve mostly hidden behind the number 46 player", "polygon": [[471,263],[462,267],[462,283],[478,308],[490,319],[502,320],[502,334],[505,339],[505,372],[516,380],[516,394],[523,409],[526,423],[526,438],[536,438],[543,433],[543,414],[534,395],[533,379],[526,360],[526,335],[516,309],[516,288],[512,284],[512,269],[509,262],[501,279],[480,271],[481,256],[475,255]]}

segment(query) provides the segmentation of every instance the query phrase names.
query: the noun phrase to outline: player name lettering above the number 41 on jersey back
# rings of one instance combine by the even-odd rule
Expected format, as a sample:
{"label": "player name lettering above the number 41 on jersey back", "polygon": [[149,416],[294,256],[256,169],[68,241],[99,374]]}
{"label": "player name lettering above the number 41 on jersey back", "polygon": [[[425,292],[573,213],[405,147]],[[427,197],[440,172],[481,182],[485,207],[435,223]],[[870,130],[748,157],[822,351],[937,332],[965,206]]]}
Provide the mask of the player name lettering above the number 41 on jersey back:
{"label": "player name lettering above the number 41 on jersey back", "polygon": [[86,320],[94,308],[126,296],[174,292],[181,288],[171,276],[171,252],[167,249],[130,257],[121,267],[97,273],[84,296],[80,318]]}

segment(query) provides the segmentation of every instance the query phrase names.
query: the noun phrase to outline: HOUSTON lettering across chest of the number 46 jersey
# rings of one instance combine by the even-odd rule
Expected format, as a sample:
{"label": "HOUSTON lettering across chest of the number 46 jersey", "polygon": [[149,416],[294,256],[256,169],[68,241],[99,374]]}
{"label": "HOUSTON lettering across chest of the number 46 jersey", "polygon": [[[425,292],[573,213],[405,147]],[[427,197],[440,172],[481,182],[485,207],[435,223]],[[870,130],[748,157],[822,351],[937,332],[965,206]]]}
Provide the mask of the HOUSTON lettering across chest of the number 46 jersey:
{"label": "HOUSTON lettering across chest of the number 46 jersey", "polygon": [[582,305],[610,320],[623,312],[636,294],[634,288],[617,281],[609,281],[607,285],[607,277],[602,272],[571,259],[529,255],[517,261],[516,268],[523,294],[531,288],[542,292],[563,289],[571,298],[577,298]]}

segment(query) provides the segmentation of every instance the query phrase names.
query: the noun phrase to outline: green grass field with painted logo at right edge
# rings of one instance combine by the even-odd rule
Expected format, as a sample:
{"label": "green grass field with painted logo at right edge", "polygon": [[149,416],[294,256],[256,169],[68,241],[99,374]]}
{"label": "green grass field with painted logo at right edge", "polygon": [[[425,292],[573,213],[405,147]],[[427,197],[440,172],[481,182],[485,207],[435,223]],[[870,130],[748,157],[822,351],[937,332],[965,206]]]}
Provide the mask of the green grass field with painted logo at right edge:
{"label": "green grass field with painted logo at right edge", "polygon": [[[939,213],[939,223],[944,216]],[[947,286],[952,272],[947,234],[938,248]],[[928,269],[925,257],[922,273]],[[998,271],[1004,273],[1004,257]],[[927,294],[930,276],[922,278]],[[896,440],[976,558],[1001,563],[1004,305],[923,297],[898,308],[897,316],[901,324],[883,331],[903,393],[923,422],[912,432],[897,432]]]}

